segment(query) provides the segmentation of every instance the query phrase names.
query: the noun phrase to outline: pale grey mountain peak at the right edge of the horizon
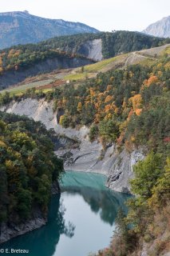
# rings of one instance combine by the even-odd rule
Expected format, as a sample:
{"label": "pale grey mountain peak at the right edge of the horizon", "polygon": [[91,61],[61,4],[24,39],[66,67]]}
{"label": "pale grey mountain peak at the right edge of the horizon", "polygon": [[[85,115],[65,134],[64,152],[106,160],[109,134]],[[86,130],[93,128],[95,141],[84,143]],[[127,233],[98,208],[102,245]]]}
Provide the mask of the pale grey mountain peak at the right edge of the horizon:
{"label": "pale grey mountain peak at the right edge of the horizon", "polygon": [[160,38],[170,38],[170,16],[149,25],[143,32]]}

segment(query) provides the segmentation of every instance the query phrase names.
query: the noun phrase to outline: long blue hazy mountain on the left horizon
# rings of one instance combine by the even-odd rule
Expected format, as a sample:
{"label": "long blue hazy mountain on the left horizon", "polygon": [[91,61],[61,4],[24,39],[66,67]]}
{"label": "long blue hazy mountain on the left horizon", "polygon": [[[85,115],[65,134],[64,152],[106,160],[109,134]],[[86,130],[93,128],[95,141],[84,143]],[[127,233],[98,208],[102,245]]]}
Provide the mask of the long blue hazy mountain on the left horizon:
{"label": "long blue hazy mountain on the left horizon", "polygon": [[60,35],[97,32],[80,22],[41,18],[26,10],[0,13],[0,49]]}

